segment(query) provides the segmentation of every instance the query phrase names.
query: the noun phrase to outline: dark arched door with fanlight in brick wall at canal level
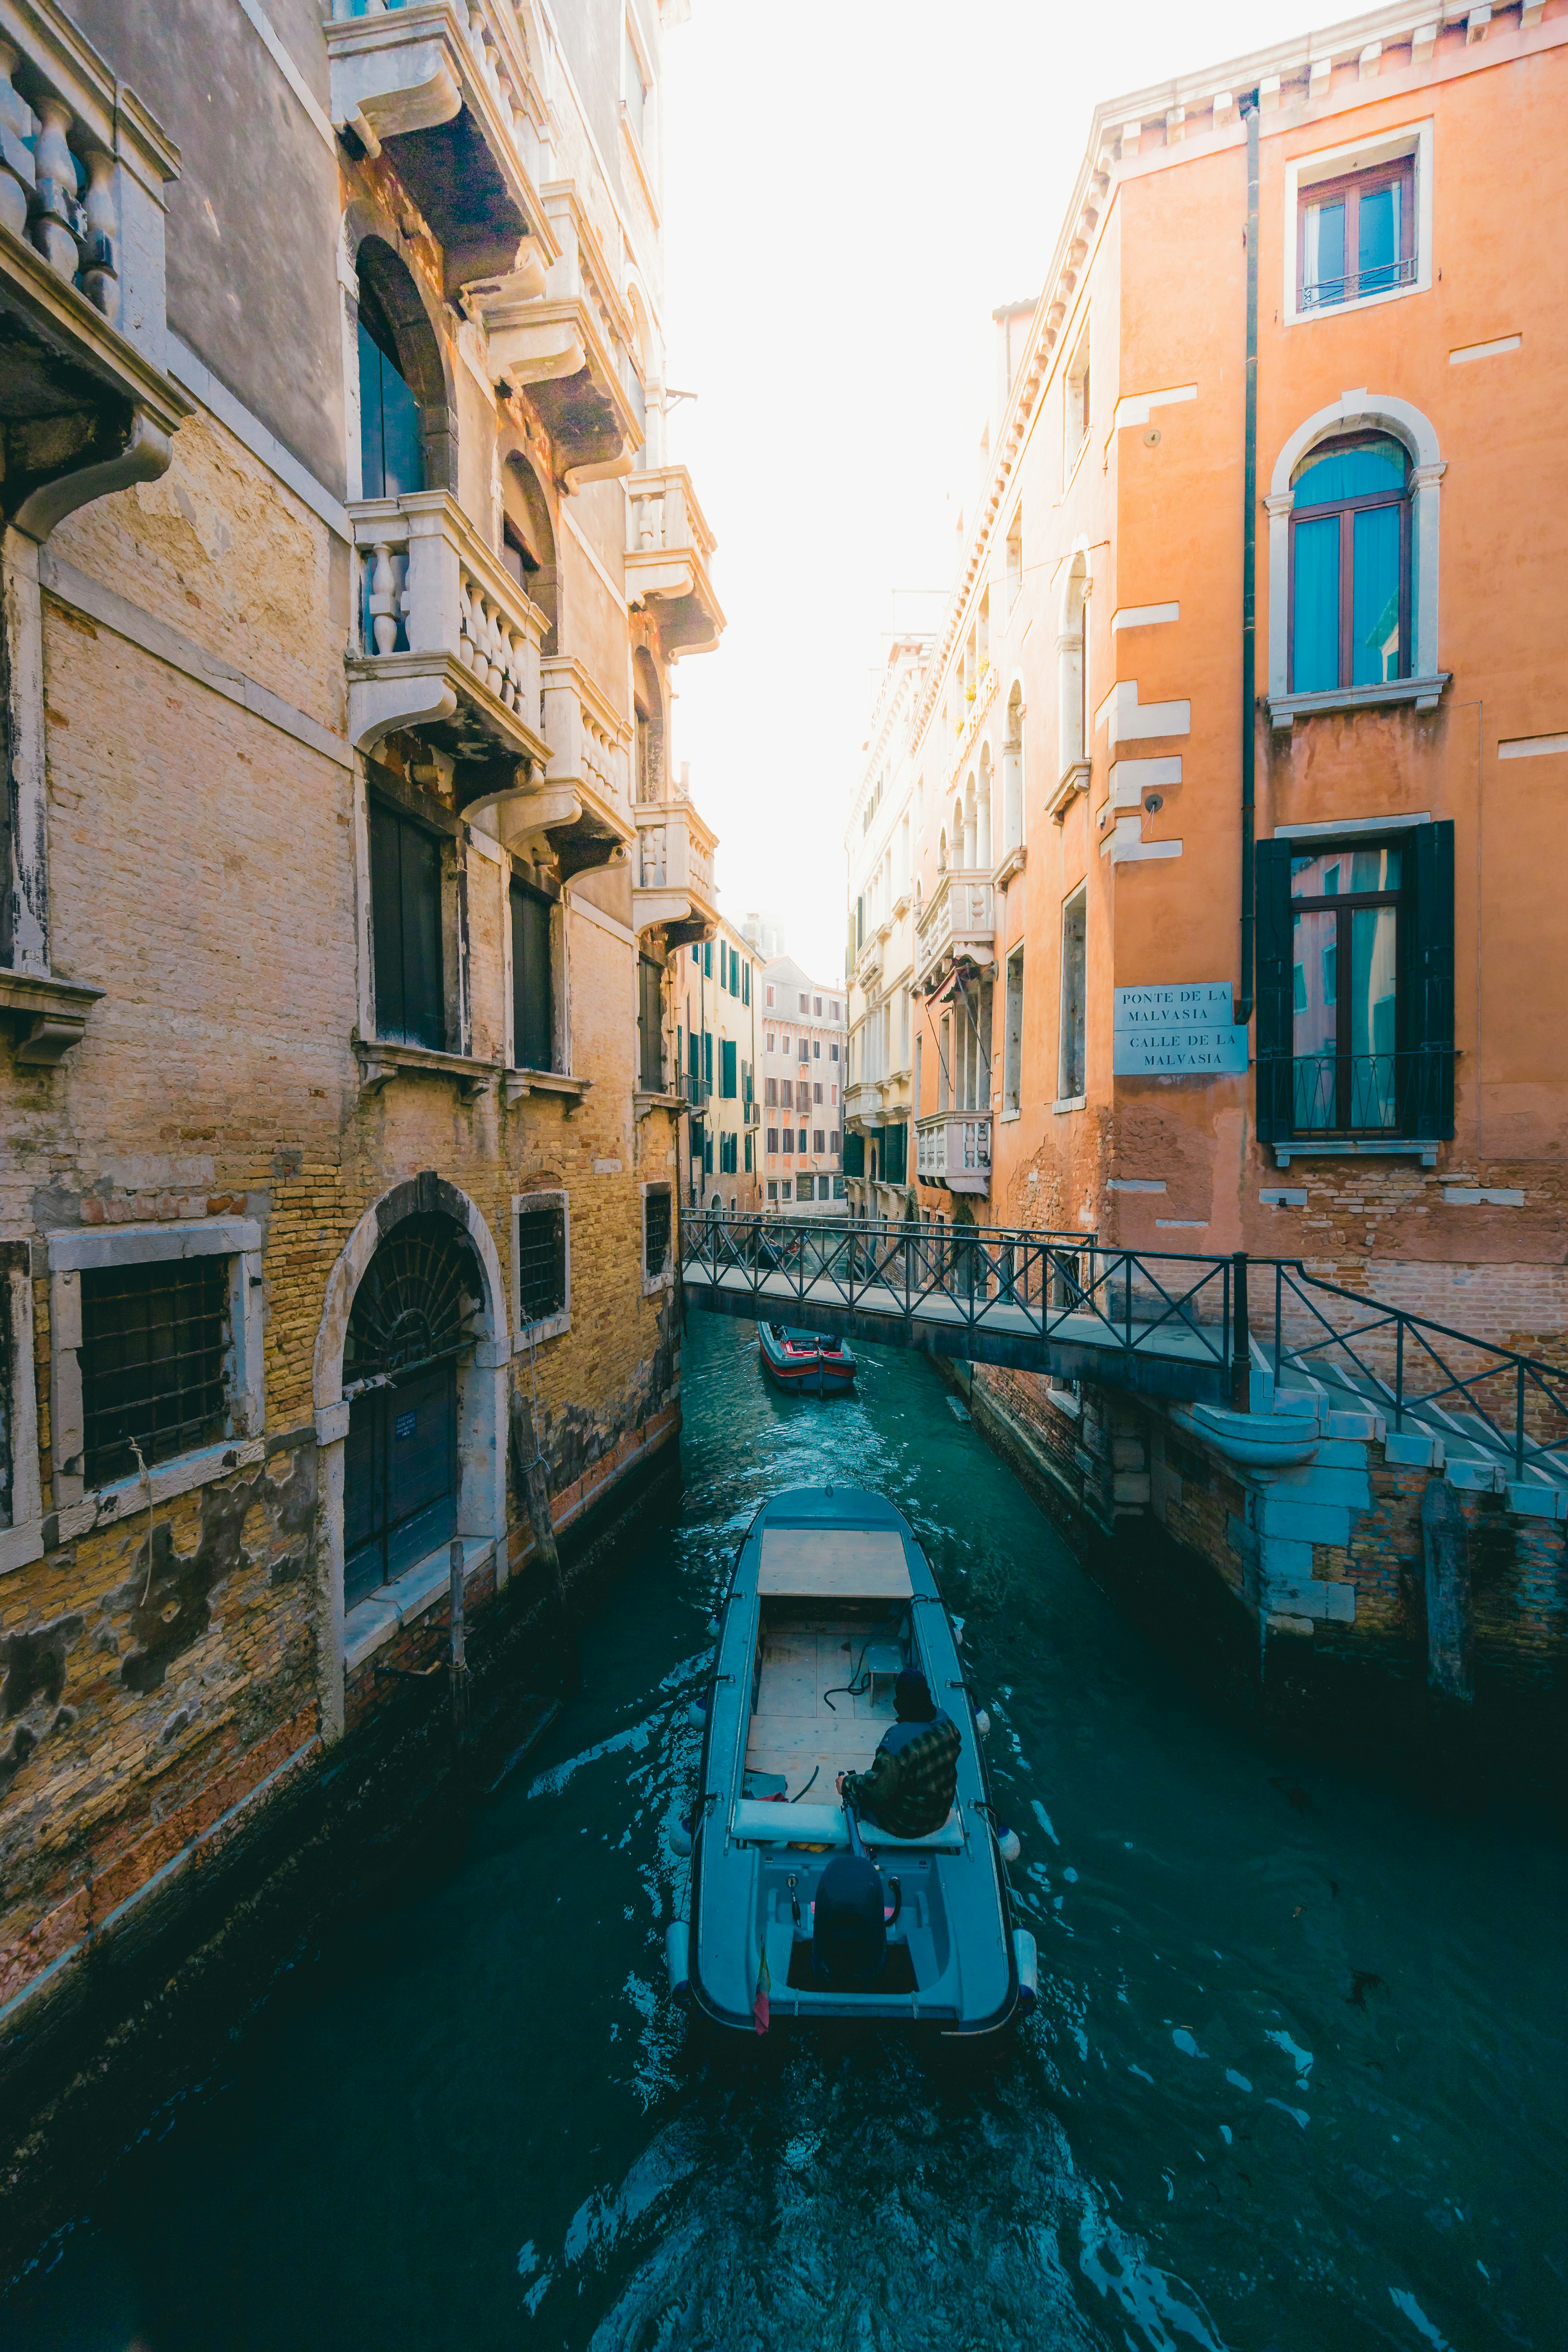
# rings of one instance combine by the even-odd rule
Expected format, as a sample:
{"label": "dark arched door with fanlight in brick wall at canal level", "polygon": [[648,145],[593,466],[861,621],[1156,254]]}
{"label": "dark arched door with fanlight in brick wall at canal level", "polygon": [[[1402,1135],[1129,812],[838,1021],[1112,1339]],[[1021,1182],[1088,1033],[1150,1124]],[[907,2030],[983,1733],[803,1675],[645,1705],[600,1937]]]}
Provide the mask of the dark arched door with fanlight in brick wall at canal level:
{"label": "dark arched door with fanlight in brick wall at canal level", "polygon": [[484,1275],[454,1218],[418,1211],[378,1242],[343,1338],[343,1606],[458,1531],[461,1371]]}

